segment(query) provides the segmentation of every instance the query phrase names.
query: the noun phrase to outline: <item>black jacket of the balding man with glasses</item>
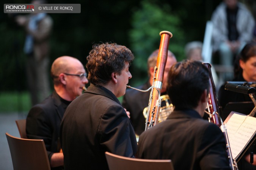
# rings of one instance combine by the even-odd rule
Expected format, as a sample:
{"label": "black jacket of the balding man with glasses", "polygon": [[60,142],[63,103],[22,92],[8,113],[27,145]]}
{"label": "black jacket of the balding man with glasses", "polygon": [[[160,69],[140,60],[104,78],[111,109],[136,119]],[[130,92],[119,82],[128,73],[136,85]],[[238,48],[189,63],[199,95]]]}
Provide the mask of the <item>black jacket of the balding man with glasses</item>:
{"label": "black jacket of the balding man with glasses", "polygon": [[53,153],[60,152],[60,122],[70,102],[53,93],[42,103],[33,106],[27,116],[28,139],[43,139],[49,160]]}

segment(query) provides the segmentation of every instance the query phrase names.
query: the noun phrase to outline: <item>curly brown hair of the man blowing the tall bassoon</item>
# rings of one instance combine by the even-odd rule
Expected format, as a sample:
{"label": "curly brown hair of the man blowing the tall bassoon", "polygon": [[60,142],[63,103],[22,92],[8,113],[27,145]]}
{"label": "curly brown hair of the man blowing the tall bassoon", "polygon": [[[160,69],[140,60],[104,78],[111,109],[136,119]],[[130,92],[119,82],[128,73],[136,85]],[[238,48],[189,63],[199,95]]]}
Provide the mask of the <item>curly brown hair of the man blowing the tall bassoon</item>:
{"label": "curly brown hair of the man blowing the tall bassoon", "polygon": [[116,43],[93,45],[87,56],[88,80],[94,85],[103,86],[111,80],[112,73],[121,74],[125,62],[130,65],[133,59],[132,52],[126,46]]}

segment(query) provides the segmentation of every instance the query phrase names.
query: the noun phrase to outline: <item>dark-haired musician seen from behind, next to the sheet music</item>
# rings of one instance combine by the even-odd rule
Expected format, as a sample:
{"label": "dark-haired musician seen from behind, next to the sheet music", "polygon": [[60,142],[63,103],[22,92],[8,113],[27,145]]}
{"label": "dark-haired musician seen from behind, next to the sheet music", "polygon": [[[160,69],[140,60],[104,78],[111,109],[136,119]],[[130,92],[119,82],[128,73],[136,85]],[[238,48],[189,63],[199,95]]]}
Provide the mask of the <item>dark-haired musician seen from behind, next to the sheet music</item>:
{"label": "dark-haired musician seen from behind, next to the sheet music", "polygon": [[202,118],[209,99],[209,75],[206,66],[195,60],[171,67],[167,94],[174,111],[140,135],[138,158],[171,159],[175,170],[230,170],[224,134]]}

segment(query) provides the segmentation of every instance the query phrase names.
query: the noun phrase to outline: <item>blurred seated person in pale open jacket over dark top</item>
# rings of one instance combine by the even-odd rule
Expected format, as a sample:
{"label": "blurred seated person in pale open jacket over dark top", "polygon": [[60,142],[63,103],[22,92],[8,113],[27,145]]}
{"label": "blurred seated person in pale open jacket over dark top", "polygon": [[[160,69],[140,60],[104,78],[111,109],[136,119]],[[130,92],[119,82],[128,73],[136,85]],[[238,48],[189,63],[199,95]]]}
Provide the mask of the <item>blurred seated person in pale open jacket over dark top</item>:
{"label": "blurred seated person in pale open jacket over dark top", "polygon": [[[223,0],[212,14],[213,51],[218,51],[220,64],[233,66],[235,56],[253,40],[255,21],[251,12],[238,0]],[[232,79],[232,73],[226,73]]]}

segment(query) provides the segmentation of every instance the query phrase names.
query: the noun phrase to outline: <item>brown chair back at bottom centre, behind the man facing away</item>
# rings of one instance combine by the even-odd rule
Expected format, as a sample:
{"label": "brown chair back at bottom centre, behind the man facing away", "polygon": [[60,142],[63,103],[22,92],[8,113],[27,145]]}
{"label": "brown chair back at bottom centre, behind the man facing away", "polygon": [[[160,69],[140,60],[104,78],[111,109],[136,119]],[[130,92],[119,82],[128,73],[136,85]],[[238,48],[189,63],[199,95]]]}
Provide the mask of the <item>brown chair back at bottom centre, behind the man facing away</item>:
{"label": "brown chair back at bottom centre, behind the man facing away", "polygon": [[105,152],[109,170],[174,170],[170,159],[127,158]]}

